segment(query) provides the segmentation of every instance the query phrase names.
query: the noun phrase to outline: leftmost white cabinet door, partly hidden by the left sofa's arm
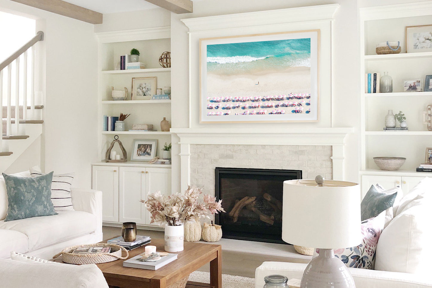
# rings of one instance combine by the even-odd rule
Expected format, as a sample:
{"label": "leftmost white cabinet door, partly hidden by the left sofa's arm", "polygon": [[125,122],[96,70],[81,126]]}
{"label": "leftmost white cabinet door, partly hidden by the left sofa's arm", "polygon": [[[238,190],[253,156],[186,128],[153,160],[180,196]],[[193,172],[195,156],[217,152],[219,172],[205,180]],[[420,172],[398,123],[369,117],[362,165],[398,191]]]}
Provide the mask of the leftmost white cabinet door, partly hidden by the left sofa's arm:
{"label": "leftmost white cabinet door, partly hidden by the left sofa's arm", "polygon": [[118,222],[118,167],[93,166],[92,189],[102,191],[102,220]]}

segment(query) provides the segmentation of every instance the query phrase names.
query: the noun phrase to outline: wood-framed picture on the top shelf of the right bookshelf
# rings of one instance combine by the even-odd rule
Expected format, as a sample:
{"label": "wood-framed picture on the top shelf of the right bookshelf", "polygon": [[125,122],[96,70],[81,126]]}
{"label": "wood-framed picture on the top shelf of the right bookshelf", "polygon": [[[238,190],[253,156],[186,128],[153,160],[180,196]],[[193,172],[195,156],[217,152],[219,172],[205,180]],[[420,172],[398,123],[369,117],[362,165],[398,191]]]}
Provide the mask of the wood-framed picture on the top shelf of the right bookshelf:
{"label": "wood-framed picture on the top shelf of the right bookshelf", "polygon": [[432,51],[432,25],[406,26],[407,53]]}

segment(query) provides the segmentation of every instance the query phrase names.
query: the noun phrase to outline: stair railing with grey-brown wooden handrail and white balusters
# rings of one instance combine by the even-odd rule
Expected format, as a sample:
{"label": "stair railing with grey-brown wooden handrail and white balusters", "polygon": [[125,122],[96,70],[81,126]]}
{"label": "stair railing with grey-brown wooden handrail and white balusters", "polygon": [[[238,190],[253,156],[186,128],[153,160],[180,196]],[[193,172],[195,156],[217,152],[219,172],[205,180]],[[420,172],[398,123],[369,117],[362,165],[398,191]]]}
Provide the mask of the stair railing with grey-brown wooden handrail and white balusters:
{"label": "stair railing with grey-brown wooden handrail and white balusters", "polygon": [[[0,156],[12,154],[3,149],[4,146],[7,146],[3,145],[3,140],[28,138],[23,133],[24,129],[20,129],[20,123],[25,124],[29,123],[27,122],[28,120],[38,120],[35,119],[35,109],[37,109],[35,106],[35,46],[37,42],[43,40],[44,32],[37,32],[35,37],[0,63],[0,106],[2,106],[0,109],[0,119],[2,119],[2,124],[0,125],[0,135],[2,135],[0,137]],[[28,72],[28,54],[30,54],[31,58],[30,73]],[[20,68],[22,68],[23,72],[22,77],[20,77]],[[12,73],[13,71],[14,73]],[[29,77],[30,81],[28,81]],[[12,81],[13,79],[14,81]],[[30,89],[27,87],[28,82],[30,83]],[[12,83],[15,84],[14,89]],[[6,95],[3,95],[3,87],[6,87]],[[22,91],[20,88],[22,88]],[[6,99],[4,99],[4,96],[6,96]],[[29,98],[30,106],[27,104]],[[14,106],[12,106],[13,99]],[[27,109],[22,109],[22,107],[26,107]],[[30,109],[30,113],[27,112],[28,109]],[[19,121],[16,121],[16,119]],[[3,125],[3,122],[6,122],[5,125]]]}

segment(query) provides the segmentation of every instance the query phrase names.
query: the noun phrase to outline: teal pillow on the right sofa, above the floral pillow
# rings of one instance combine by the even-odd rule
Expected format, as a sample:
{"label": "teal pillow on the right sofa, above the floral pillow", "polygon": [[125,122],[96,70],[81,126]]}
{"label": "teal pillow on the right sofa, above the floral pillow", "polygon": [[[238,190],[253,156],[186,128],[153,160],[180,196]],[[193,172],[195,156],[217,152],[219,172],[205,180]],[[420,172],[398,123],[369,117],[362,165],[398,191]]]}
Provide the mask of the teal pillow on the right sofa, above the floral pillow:
{"label": "teal pillow on the right sofa, above the floral pillow", "polygon": [[[397,188],[400,189],[399,186]],[[396,190],[396,192],[394,192],[394,190]],[[382,211],[392,207],[394,200],[397,197],[397,193],[397,189],[382,191],[375,185],[372,185],[371,188],[369,188],[369,191],[366,193],[365,198],[362,200],[362,221],[376,217]]]}

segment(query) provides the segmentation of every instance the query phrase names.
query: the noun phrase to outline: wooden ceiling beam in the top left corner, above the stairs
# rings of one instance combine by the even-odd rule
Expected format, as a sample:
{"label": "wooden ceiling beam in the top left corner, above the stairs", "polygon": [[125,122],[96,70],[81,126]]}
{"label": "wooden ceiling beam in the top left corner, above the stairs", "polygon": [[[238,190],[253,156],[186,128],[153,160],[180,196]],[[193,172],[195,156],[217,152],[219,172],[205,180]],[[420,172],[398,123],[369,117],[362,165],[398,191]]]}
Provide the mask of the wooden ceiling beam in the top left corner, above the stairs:
{"label": "wooden ceiling beam in the top left corner, above the stairs", "polygon": [[102,24],[102,13],[73,5],[62,0],[12,0],[27,6],[56,13],[91,24]]}

